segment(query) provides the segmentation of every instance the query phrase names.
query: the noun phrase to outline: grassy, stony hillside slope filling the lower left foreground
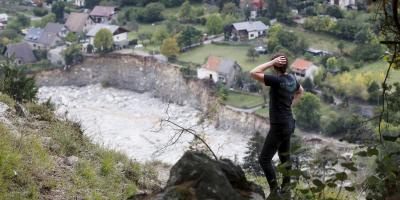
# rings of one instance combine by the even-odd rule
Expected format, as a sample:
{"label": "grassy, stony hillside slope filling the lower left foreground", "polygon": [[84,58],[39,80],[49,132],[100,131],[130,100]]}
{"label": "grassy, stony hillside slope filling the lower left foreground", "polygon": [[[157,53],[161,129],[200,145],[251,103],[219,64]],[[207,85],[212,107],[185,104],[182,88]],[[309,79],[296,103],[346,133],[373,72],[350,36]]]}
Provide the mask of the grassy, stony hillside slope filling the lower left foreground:
{"label": "grassy, stony hillside slope filling the lower left foreground", "polygon": [[0,199],[126,199],[160,186],[161,163],[92,143],[50,104],[16,106],[1,94],[0,138]]}

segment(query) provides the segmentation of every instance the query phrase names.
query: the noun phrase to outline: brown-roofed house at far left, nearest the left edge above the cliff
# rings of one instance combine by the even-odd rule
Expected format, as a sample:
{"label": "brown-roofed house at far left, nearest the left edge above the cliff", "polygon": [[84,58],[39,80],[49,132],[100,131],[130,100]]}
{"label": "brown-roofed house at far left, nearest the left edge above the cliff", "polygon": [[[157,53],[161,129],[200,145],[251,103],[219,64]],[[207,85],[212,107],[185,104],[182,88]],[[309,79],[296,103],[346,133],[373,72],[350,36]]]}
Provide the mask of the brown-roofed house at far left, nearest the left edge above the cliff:
{"label": "brown-roofed house at far left, nearest the left edge above the cliff", "polygon": [[31,46],[27,42],[9,44],[6,47],[5,56],[14,60],[15,64],[29,64],[37,61]]}

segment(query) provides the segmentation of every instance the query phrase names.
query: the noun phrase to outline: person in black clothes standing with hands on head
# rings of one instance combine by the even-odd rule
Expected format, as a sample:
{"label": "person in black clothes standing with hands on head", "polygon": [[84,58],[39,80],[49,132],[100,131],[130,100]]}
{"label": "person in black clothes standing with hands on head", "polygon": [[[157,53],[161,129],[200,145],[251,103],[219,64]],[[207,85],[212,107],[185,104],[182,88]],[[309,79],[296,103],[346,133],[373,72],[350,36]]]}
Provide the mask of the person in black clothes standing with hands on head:
{"label": "person in black clothes standing with hands on head", "polygon": [[[264,71],[273,67],[276,75],[264,74]],[[276,180],[272,158],[278,151],[279,160],[291,169],[290,137],[295,129],[295,120],[292,114],[292,104],[296,104],[303,87],[292,74],[286,72],[288,67],[287,56],[276,54],[269,62],[261,64],[250,71],[251,77],[270,86],[269,119],[270,129],[261,151],[259,162],[267,178],[270,195],[267,199],[290,199],[290,176],[284,175],[281,189]]]}

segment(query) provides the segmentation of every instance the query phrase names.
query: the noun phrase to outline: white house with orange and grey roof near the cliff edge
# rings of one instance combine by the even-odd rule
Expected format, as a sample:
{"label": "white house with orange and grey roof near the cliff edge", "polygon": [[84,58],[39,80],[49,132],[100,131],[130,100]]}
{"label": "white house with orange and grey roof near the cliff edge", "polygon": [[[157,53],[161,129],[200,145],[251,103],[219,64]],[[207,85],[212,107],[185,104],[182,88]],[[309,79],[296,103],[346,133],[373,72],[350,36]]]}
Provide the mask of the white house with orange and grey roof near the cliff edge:
{"label": "white house with orange and grey roof near the cliff edge", "polygon": [[240,71],[240,66],[233,60],[209,56],[207,62],[197,69],[197,78],[212,79],[215,83],[222,82],[231,87]]}

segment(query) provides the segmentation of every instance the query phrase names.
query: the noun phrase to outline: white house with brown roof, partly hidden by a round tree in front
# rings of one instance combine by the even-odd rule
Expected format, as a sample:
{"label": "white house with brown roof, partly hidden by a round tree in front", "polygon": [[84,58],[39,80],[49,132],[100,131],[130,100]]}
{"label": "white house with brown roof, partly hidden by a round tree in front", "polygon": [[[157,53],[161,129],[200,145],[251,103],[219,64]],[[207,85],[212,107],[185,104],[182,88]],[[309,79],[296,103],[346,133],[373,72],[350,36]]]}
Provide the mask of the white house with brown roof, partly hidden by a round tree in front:
{"label": "white house with brown roof, partly hidden by a round tree in front", "polygon": [[89,38],[89,44],[94,45],[94,37],[101,29],[107,29],[113,34],[114,48],[122,49],[129,45],[128,30],[116,25],[108,24],[96,24],[89,30],[86,34]]}

